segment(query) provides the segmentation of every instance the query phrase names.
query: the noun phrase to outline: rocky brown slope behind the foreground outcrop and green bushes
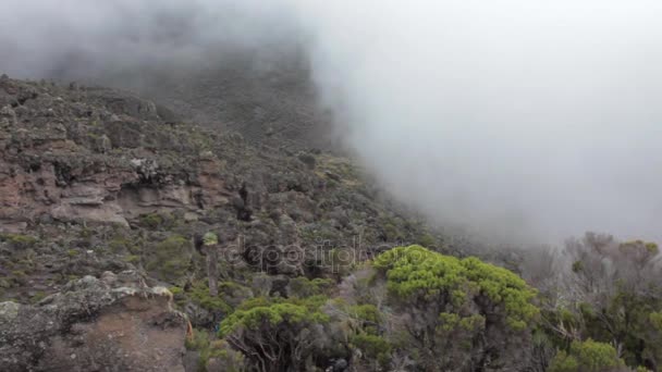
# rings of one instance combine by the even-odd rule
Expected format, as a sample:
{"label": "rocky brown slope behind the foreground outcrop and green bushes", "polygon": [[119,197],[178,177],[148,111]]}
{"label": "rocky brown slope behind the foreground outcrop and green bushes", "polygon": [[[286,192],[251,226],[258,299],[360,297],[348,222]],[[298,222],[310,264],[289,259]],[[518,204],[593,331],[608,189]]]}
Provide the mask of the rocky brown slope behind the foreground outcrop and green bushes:
{"label": "rocky brown slope behind the foreground outcrop and green bushes", "polygon": [[[436,239],[347,159],[256,147],[76,84],[2,76],[0,108],[1,300],[37,303],[72,280],[126,270],[195,293],[205,258],[194,243],[207,232],[236,248],[223,280],[266,272],[268,292],[289,277],[333,277],[332,250]],[[210,310],[182,307],[195,326],[213,327]]]}

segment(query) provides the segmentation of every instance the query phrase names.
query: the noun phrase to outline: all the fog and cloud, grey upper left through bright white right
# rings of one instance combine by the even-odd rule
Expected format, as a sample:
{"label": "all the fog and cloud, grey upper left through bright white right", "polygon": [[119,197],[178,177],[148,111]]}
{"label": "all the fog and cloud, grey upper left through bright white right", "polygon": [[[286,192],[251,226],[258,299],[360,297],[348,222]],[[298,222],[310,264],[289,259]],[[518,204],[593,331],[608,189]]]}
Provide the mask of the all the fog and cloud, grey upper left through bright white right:
{"label": "all the fog and cloud, grey upper left through bright white right", "polygon": [[655,0],[4,0],[0,72],[295,38],[347,146],[439,223],[661,239],[660,20]]}

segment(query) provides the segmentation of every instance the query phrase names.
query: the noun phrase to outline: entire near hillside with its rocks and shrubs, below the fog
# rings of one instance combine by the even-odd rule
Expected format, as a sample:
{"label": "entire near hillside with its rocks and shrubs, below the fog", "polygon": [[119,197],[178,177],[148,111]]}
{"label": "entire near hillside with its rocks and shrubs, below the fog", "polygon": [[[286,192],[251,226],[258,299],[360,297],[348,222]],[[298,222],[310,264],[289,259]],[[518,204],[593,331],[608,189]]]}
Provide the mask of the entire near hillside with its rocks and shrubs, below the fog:
{"label": "entire near hillside with its rocks and shrubs, below the fog", "polygon": [[1,371],[662,365],[655,244],[485,250],[305,137],[194,116],[0,77]]}

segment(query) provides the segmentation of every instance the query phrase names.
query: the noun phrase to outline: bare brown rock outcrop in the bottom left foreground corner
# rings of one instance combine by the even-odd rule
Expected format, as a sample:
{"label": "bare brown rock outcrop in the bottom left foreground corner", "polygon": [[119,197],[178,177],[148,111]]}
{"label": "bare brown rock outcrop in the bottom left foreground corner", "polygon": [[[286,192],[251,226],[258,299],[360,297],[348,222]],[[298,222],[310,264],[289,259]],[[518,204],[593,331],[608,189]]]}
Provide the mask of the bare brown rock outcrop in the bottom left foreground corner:
{"label": "bare brown rock outcrop in the bottom left foreground corner", "polygon": [[36,306],[0,302],[0,371],[183,372],[186,334],[168,289],[106,272]]}

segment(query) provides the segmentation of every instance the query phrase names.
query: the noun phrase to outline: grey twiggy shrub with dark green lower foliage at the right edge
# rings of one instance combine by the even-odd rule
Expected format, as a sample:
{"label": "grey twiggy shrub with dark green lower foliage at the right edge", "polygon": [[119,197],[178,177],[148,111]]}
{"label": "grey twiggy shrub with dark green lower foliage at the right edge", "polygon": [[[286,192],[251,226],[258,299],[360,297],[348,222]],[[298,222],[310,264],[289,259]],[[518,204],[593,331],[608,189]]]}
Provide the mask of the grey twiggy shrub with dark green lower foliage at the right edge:
{"label": "grey twiggy shrub with dark green lower foliage at the right edge", "polygon": [[[630,368],[661,369],[662,331],[655,326],[655,313],[662,309],[658,245],[587,234],[583,240],[571,241],[566,251],[576,259],[571,280],[580,293],[574,301],[569,297],[566,308],[574,319],[562,319],[563,328],[581,338],[618,345],[621,358]],[[557,312],[545,314],[550,324],[560,323],[554,320],[562,318]],[[551,339],[565,349],[566,337],[554,338],[559,334],[554,330],[548,330]]]}

